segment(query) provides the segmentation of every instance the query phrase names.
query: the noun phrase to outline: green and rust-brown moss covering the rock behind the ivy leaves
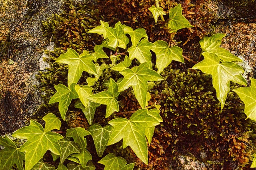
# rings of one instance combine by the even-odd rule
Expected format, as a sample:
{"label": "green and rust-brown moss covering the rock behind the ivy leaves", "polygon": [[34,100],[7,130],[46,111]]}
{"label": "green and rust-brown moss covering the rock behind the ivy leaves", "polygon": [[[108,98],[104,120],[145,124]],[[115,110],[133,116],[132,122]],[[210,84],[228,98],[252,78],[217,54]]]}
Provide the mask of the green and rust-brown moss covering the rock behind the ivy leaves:
{"label": "green and rust-brown moss covering the rock behind the ivy leaves", "polygon": [[[109,22],[110,26],[118,21],[132,28],[145,28],[149,40],[165,40],[170,44],[183,45],[184,55],[197,61],[200,56],[198,41],[211,32],[214,27],[216,16],[207,6],[206,0],[161,0],[160,6],[167,11],[164,16],[168,20],[168,10],[174,5],[181,3],[184,16],[194,25],[194,28],[183,29],[174,34],[164,28],[165,22],[154,23],[148,8],[154,5],[154,0],[113,0],[99,1],[98,4],[72,4],[68,1],[64,6],[63,14],[55,14],[43,23],[44,35],[48,40],[55,42],[56,48],[51,53],[50,65],[47,71],[38,74],[40,81],[39,89],[45,105],[38,109],[37,115],[54,113],[58,115],[58,104],[47,104],[50,97],[54,95],[54,85],[67,82],[67,65],[54,62],[60,54],[66,52],[68,47],[79,53],[83,49],[92,51],[94,45],[100,44],[102,36],[88,34],[87,31],[99,25],[100,20]],[[108,6],[108,8],[106,8]],[[118,7],[118,8],[117,8]],[[167,18],[166,18],[167,17]],[[108,51],[106,51],[108,52]],[[154,56],[153,56],[154,60]],[[106,60],[100,62],[108,63]],[[178,169],[180,155],[193,155],[200,162],[204,162],[212,169],[248,169],[255,152],[255,123],[245,120],[243,113],[244,105],[238,96],[230,92],[223,110],[216,99],[216,92],[212,87],[212,79],[191,68],[193,63],[172,62],[162,76],[164,81],[157,82],[150,90],[152,98],[150,105],[154,103],[161,105],[161,116],[164,122],[157,126],[152,143],[148,147],[149,164],[143,164],[130,148],[122,148],[121,142],[114,147],[108,146],[105,154],[114,152],[118,156],[126,158],[128,163],[135,162],[136,169]],[[86,73],[82,75],[79,84],[85,84]],[[120,75],[110,69],[105,69],[99,81],[94,85],[94,93],[106,90],[103,83],[113,77],[117,80]],[[238,87],[233,84],[231,88]],[[138,102],[131,89],[119,96],[120,112],[114,113],[108,119],[104,118],[104,105],[96,109],[94,122],[102,126],[116,117],[131,116],[130,111],[139,108]],[[127,114],[126,114],[127,113]],[[60,115],[59,115],[60,117]],[[66,128],[84,127],[88,123],[79,109],[74,108],[71,103],[66,115]],[[95,153],[92,138],[88,137],[88,150],[93,156],[93,162],[100,160]],[[202,158],[200,153],[205,153]],[[98,167],[102,167],[97,164]]]}

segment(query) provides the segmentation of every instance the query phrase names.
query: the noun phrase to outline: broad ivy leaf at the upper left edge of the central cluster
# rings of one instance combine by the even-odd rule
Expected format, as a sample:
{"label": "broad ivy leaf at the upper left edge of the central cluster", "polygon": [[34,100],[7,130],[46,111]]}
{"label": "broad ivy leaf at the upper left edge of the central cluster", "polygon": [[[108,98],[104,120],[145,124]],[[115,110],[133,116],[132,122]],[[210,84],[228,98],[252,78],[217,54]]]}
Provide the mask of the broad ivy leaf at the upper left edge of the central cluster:
{"label": "broad ivy leaf at the upper left edge of the central cluster", "polygon": [[78,82],[83,71],[97,75],[95,65],[92,62],[94,58],[93,55],[86,53],[78,55],[74,49],[68,48],[68,51],[60,55],[56,62],[68,64],[68,86],[70,86],[72,83]]}

